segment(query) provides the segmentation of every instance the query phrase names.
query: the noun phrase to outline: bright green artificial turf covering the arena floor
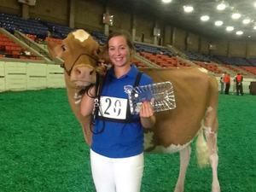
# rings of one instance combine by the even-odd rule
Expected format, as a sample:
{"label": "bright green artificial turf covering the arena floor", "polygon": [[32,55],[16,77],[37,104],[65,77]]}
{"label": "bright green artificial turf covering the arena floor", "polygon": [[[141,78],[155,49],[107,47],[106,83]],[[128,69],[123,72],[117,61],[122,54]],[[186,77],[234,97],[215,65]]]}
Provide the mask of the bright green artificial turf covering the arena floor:
{"label": "bright green artificial turf covering the arena floor", "polygon": [[[219,95],[218,180],[221,191],[256,191],[256,96]],[[0,191],[96,191],[90,148],[65,89],[0,93]],[[179,154],[145,156],[143,192],[173,191]],[[185,191],[211,191],[212,169],[196,163],[195,142]]]}

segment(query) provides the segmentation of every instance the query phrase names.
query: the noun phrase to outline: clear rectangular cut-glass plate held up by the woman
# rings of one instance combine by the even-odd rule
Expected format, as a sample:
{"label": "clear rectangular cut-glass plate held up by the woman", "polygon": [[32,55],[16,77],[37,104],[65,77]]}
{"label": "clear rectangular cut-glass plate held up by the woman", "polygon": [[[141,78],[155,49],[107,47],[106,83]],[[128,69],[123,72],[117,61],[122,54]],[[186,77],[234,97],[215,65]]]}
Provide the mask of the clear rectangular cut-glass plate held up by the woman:
{"label": "clear rectangular cut-glass plate held up by the woman", "polygon": [[139,113],[140,105],[144,101],[150,102],[152,98],[154,98],[154,103],[151,103],[154,113],[176,108],[173,86],[170,81],[137,86],[130,90],[128,95],[132,114]]}

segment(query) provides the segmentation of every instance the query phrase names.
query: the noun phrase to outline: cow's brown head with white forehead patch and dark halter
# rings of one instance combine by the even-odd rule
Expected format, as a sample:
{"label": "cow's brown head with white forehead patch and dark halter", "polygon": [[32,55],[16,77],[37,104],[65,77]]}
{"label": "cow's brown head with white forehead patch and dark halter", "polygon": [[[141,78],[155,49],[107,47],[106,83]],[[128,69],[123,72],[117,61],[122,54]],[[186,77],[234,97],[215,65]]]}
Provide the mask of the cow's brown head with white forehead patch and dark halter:
{"label": "cow's brown head with white forehead patch and dark halter", "polygon": [[96,83],[96,73],[102,73],[99,60],[106,52],[84,30],[70,32],[62,44],[47,42],[52,57],[59,56],[64,60],[64,69],[70,80],[79,87]]}

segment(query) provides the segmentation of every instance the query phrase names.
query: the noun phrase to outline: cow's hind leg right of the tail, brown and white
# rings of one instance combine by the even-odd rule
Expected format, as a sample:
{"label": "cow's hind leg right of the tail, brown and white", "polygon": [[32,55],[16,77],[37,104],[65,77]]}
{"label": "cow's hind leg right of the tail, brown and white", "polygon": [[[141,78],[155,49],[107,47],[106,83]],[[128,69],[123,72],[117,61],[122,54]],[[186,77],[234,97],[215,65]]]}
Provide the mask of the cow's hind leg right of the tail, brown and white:
{"label": "cow's hind leg right of the tail, brown and white", "polygon": [[219,192],[218,183],[218,147],[217,147],[218,119],[215,119],[212,128],[205,127],[207,144],[209,148],[209,159],[212,166],[212,192]]}

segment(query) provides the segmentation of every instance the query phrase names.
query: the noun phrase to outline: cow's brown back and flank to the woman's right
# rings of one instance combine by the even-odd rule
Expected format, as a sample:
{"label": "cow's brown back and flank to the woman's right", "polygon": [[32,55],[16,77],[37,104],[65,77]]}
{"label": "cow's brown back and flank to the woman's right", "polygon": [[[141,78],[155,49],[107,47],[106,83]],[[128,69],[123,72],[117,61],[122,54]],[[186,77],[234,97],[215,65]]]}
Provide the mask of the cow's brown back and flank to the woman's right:
{"label": "cow's brown back and flank to the woman's right", "polygon": [[183,145],[191,142],[209,107],[211,84],[206,71],[197,67],[142,68],[140,71],[152,77],[154,83],[171,81],[174,88],[177,107],[155,113],[154,145],[167,148],[171,144]]}

